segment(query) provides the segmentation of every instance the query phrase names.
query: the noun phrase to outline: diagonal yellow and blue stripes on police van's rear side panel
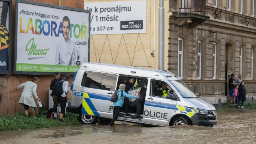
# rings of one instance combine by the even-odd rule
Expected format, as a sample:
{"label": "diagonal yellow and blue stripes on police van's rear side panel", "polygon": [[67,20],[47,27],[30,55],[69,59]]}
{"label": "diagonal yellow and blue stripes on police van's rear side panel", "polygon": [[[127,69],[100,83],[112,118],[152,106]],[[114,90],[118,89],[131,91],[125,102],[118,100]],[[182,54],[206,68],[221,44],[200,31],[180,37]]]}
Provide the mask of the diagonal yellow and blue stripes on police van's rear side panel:
{"label": "diagonal yellow and blue stripes on police van's rear side panel", "polygon": [[83,93],[82,95],[83,95],[82,114],[95,115],[100,117],[100,114],[98,113],[97,109],[95,108],[92,101],[90,100],[90,96],[89,96],[90,94]]}

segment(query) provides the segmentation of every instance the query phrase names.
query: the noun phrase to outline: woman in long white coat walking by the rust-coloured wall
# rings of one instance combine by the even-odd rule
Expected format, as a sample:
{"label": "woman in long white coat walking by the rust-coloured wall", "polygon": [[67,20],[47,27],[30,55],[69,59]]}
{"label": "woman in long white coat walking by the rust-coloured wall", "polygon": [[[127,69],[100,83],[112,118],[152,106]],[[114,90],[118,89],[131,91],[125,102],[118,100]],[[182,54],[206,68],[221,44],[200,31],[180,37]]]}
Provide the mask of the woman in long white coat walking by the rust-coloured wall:
{"label": "woman in long white coat walking by the rust-coloured wall", "polygon": [[28,116],[28,109],[29,106],[32,107],[32,114],[33,117],[36,117],[36,103],[33,98],[34,97],[40,102],[40,99],[37,96],[36,88],[39,82],[38,77],[34,77],[32,81],[27,81],[23,84],[20,84],[16,89],[19,90],[20,88],[24,87],[22,91],[19,103],[24,106],[25,108],[25,115]]}

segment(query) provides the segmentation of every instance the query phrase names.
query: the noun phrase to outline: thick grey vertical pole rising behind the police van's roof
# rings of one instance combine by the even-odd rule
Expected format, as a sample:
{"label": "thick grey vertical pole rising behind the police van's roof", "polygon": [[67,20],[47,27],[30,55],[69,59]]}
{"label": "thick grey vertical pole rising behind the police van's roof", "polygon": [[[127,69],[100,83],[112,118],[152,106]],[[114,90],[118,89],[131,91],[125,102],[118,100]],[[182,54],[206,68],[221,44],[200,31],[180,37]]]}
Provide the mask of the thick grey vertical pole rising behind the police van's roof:
{"label": "thick grey vertical pole rising behind the police van's roof", "polygon": [[164,70],[164,0],[159,0],[158,69]]}

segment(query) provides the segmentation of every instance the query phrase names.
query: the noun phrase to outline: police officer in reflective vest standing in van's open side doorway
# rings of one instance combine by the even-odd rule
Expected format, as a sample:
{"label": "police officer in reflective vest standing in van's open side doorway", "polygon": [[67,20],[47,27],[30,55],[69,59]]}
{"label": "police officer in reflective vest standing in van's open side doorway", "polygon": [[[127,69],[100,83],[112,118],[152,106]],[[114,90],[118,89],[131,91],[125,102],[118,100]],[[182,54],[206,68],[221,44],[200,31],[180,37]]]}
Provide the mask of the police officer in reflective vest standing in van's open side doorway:
{"label": "police officer in reflective vest standing in van's open side doorway", "polygon": [[139,99],[137,99],[135,102],[136,102],[136,109],[137,109],[137,112],[134,116],[132,116],[132,118],[140,118],[141,115],[141,105],[142,103],[145,101],[145,96],[146,96],[146,88],[147,88],[147,85],[145,84],[145,82],[143,81],[143,79],[141,78],[128,78],[129,79],[129,82],[134,84],[133,86],[138,89],[138,88],[141,88],[141,90],[139,91],[140,95],[139,95]]}

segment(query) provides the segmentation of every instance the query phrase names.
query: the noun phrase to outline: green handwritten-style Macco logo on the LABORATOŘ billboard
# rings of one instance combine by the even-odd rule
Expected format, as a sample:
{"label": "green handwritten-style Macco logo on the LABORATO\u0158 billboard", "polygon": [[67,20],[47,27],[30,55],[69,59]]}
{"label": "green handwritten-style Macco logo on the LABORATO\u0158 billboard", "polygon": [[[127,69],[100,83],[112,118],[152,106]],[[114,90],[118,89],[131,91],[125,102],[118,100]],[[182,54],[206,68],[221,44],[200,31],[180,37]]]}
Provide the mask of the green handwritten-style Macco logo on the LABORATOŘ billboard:
{"label": "green handwritten-style Macco logo on the LABORATO\u0158 billboard", "polygon": [[[28,45],[30,46],[30,48],[28,48]],[[31,40],[29,40],[28,44],[26,45],[26,51],[29,51],[28,56],[36,56],[36,55],[46,55],[47,50],[50,50],[50,48],[46,48],[46,49],[36,49],[37,45],[34,44],[34,38],[32,38]]]}

